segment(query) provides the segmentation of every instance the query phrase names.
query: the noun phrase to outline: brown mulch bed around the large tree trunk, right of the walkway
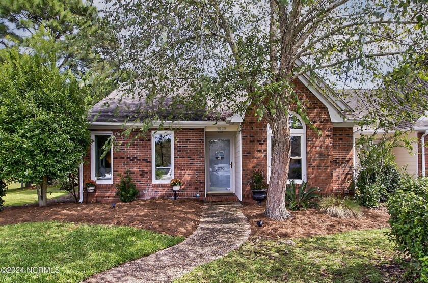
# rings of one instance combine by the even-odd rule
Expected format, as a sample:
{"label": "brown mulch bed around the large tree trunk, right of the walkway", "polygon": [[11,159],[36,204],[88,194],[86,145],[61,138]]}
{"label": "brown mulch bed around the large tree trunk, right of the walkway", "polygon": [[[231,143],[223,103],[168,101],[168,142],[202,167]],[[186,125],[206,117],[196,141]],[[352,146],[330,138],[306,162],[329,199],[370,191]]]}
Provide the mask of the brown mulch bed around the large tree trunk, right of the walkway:
{"label": "brown mulch bed around the large tree trunk, right of the walkway", "polygon": [[[296,238],[327,235],[350,230],[379,229],[389,227],[389,215],[385,209],[363,209],[362,219],[341,219],[329,217],[315,208],[292,211],[295,217],[287,221],[274,221],[263,215],[265,207],[250,204],[243,212],[251,225],[251,234],[264,237]],[[263,227],[257,226],[257,220],[263,220]]]}

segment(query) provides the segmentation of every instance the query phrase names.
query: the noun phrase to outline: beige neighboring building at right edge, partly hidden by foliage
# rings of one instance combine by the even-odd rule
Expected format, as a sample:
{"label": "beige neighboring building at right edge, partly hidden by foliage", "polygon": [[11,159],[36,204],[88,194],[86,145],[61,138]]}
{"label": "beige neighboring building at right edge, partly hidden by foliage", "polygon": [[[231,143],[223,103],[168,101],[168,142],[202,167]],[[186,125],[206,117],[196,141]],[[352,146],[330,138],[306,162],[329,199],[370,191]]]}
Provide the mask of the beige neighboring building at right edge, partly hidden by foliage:
{"label": "beige neighboring building at right edge, partly hidden by foliage", "polygon": [[[426,90],[428,89],[428,82],[419,79],[414,83],[409,83],[405,91],[411,92],[415,89],[420,92],[421,96],[427,97]],[[358,109],[355,112],[355,115],[360,119],[363,119],[369,110],[372,110],[373,108],[376,109],[374,106],[370,106],[370,103],[364,98],[366,96],[363,93],[370,92],[370,90],[346,90],[341,92],[347,93],[347,98],[344,100],[352,109]],[[397,101],[395,101],[395,104],[399,105]],[[397,111],[413,111],[415,112],[415,116],[417,118],[411,121],[406,120],[398,123],[395,130],[400,130],[407,133],[407,137],[413,141],[411,143],[413,150],[409,151],[404,147],[393,148],[392,153],[395,155],[395,162],[397,163],[398,167],[405,168],[407,173],[412,176],[427,176],[426,174],[428,174],[428,168],[425,164],[428,158],[428,150],[426,149],[426,146],[422,148],[421,145],[428,142],[428,112],[422,109],[422,107],[415,110],[414,107],[411,108],[409,105],[404,105]],[[364,126],[364,129],[355,127],[354,137],[356,140],[358,140],[361,135],[372,135],[374,132],[375,129],[372,126]],[[384,133],[385,132],[382,130],[376,130],[376,136],[379,137],[379,139]],[[424,154],[422,154],[422,152]],[[357,154],[355,156],[354,166],[358,167]]]}

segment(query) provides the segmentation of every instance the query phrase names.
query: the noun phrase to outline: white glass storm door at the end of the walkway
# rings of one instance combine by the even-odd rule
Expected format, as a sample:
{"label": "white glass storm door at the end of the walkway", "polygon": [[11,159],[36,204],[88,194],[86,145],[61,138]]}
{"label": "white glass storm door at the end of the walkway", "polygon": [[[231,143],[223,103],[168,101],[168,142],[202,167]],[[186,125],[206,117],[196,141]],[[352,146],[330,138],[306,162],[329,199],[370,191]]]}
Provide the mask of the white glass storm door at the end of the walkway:
{"label": "white glass storm door at the end of the walkway", "polygon": [[209,139],[209,191],[230,191],[230,139]]}

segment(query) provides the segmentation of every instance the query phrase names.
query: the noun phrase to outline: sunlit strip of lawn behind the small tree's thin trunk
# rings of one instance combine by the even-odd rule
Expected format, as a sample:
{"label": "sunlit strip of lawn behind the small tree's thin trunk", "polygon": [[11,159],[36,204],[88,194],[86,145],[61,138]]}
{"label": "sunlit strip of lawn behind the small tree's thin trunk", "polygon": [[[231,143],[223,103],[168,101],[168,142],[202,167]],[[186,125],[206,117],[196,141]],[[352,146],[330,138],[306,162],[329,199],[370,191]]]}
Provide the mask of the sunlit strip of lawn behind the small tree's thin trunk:
{"label": "sunlit strip of lawn behind the small tree's thin trunk", "polygon": [[[16,187],[16,183],[13,183],[11,187]],[[36,189],[21,189],[20,185],[18,188],[11,188],[6,191],[5,206],[8,205],[24,205],[37,203],[37,191]],[[68,193],[64,190],[60,190],[56,186],[47,188],[47,199],[53,199],[54,197],[60,197],[67,195]]]}

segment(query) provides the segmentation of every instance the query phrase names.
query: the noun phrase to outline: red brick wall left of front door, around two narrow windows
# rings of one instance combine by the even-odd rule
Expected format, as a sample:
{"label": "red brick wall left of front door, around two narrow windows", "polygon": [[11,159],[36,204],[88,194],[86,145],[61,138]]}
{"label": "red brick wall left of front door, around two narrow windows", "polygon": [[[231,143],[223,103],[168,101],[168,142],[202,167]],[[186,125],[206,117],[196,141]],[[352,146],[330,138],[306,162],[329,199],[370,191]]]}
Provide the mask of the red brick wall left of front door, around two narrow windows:
{"label": "red brick wall left of front door, around two narrow windows", "polygon": [[[118,201],[115,196],[116,184],[126,169],[130,170],[133,182],[140,190],[139,199],[151,197],[172,197],[173,192],[169,184],[152,184],[151,180],[151,137],[147,133],[143,137],[135,138],[135,132],[129,137],[116,135],[119,150],[113,152],[113,185],[97,185],[97,199],[101,202]],[[205,163],[204,163],[204,129],[183,129],[174,131],[174,177],[183,181],[178,193],[179,197],[196,197],[199,193],[203,199],[205,195]],[[90,153],[86,156],[84,165],[84,180],[91,178]],[[85,194],[86,197],[86,194]],[[89,199],[91,200],[92,194]]]}

